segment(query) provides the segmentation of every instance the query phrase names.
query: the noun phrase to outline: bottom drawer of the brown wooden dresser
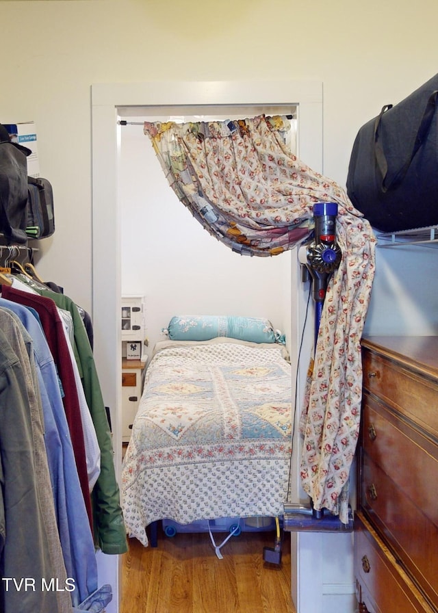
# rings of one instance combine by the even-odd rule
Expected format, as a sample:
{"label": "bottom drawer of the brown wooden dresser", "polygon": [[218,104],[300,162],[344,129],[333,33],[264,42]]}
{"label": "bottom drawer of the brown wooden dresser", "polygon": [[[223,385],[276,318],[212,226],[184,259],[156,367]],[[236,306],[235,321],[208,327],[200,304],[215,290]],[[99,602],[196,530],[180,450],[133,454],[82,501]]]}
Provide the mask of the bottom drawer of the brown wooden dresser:
{"label": "bottom drawer of the brown wooden dresser", "polygon": [[370,613],[433,613],[368,521],[355,517],[355,576]]}

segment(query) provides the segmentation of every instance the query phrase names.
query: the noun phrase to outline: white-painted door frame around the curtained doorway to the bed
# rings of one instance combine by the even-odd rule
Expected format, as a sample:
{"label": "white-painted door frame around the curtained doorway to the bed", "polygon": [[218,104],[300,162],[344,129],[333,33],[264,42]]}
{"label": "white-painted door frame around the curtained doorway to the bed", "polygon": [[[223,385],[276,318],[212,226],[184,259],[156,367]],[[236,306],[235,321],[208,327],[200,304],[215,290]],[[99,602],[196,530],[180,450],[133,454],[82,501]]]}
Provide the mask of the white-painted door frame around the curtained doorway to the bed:
{"label": "white-painted door frame around the curtained doorway to the bed", "polygon": [[[105,404],[110,407],[116,475],[122,461],[121,385],[121,216],[118,164],[124,116],[159,115],[159,108],[212,105],[296,106],[298,109],[297,151],[300,159],[322,172],[322,83],[320,81],[157,81],[145,83],[96,83],[91,87],[92,120],[92,320],[94,360]],[[177,109],[176,109],[177,110]],[[175,113],[177,114],[177,112]],[[300,291],[299,265],[292,265],[292,287],[297,287],[292,313],[293,364],[305,321],[307,297]],[[301,372],[300,372],[301,371]],[[298,402],[307,363],[298,372]],[[295,382],[294,382],[295,383]],[[300,405],[299,405],[300,406]],[[297,413],[297,411],[296,411]],[[298,473],[295,483],[298,491]],[[110,556],[111,558],[111,556]],[[105,567],[106,562],[103,566]],[[118,610],[118,571],[108,562],[113,603],[108,613]],[[103,571],[108,576],[107,571]]]}

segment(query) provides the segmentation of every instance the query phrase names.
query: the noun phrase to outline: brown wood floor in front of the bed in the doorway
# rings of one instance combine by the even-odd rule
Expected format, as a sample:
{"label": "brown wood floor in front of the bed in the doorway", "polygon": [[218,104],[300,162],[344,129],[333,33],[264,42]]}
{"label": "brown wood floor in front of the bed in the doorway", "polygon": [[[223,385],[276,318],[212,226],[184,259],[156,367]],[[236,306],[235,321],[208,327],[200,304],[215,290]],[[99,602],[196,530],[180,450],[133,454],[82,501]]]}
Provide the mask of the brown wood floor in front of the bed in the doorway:
{"label": "brown wood floor in front of the bed in the doorway", "polygon": [[[216,533],[217,544],[227,536]],[[158,547],[129,539],[120,613],[295,613],[290,596],[290,537],[281,566],[263,562],[274,532],[233,536],[216,557],[208,533],[159,531]]]}

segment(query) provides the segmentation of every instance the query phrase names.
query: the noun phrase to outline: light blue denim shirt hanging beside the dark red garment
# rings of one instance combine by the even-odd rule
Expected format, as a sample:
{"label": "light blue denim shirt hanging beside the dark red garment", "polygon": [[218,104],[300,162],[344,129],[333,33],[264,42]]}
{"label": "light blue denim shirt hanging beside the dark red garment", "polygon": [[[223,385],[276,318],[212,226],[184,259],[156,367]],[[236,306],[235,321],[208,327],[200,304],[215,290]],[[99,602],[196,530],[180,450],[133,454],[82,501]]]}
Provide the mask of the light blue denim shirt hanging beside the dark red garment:
{"label": "light blue denim shirt hanging beside the dark red garment", "polygon": [[4,298],[0,307],[18,315],[33,340],[57,527],[67,576],[75,581],[70,595],[77,606],[97,588],[97,563],[55,363],[36,311]]}

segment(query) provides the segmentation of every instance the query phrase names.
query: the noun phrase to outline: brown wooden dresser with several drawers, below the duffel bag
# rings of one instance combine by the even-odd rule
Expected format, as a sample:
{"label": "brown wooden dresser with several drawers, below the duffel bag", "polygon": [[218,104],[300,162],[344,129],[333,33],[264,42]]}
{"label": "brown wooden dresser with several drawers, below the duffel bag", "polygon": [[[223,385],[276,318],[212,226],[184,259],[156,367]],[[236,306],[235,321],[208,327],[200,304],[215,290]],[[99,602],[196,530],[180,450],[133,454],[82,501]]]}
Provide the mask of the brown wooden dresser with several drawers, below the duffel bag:
{"label": "brown wooden dresser with several drawers, below the duffel bag", "polygon": [[438,337],[362,340],[359,612],[438,612]]}

